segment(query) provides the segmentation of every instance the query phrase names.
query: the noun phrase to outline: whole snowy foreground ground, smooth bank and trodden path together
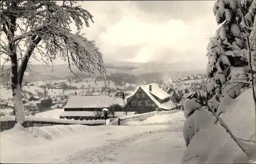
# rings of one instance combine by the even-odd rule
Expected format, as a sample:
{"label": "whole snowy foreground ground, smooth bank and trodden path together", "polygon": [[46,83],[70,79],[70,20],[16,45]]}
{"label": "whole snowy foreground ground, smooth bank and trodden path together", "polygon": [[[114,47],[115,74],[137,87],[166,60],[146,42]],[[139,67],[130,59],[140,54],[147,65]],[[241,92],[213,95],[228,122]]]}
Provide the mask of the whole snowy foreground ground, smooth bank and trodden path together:
{"label": "whole snowy foreground ground, smooth bank and trodden path together", "polygon": [[172,115],[151,126],[16,126],[0,133],[1,163],[177,163],[185,150],[184,117]]}

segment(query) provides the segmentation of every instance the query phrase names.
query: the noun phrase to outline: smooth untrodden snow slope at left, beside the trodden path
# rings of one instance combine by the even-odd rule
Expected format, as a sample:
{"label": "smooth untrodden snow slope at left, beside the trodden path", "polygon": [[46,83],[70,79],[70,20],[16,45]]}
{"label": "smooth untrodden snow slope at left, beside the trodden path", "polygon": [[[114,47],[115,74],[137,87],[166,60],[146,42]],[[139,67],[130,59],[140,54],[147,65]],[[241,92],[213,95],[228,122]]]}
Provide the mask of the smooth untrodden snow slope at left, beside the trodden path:
{"label": "smooth untrodden snow slope at left, beside the trodden path", "polygon": [[84,149],[108,144],[110,140],[131,138],[166,127],[55,125],[25,129],[15,126],[0,133],[0,159],[1,163],[50,163]]}

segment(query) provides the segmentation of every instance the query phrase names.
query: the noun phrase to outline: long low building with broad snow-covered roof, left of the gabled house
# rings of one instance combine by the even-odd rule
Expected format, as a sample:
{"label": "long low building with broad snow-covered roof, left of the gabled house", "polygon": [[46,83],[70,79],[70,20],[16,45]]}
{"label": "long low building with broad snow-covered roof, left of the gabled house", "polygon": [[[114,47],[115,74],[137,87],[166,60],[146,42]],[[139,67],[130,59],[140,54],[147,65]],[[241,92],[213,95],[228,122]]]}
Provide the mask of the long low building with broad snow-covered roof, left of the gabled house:
{"label": "long low building with broad snow-covered roof, left of the gabled house", "polygon": [[[114,107],[114,112],[113,112]],[[109,117],[133,115],[135,112],[123,112],[123,100],[112,96],[71,96],[64,106],[60,118],[75,120],[103,119],[103,108],[109,109]]]}

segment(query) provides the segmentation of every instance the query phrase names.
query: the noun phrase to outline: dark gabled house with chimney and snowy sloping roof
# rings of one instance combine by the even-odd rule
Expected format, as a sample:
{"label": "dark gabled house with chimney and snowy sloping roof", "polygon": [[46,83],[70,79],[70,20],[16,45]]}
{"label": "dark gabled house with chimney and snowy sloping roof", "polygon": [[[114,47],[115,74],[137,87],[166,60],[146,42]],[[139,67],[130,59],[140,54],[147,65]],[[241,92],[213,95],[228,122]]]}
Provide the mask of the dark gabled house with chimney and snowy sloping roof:
{"label": "dark gabled house with chimney and snowy sloping roof", "polygon": [[170,97],[167,92],[161,90],[155,83],[143,85],[138,87],[135,93],[126,99],[127,103],[123,111],[141,114],[172,110],[175,108],[175,105]]}

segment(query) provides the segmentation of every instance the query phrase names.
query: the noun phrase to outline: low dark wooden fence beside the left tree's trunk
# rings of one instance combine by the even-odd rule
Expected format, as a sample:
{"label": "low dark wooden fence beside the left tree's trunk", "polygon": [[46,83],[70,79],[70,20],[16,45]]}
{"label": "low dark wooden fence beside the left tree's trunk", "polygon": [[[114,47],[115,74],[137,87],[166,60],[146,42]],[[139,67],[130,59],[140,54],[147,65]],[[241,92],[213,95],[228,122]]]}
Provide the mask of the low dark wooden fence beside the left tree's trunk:
{"label": "low dark wooden fence beside the left tree's trunk", "polygon": [[[26,121],[26,127],[41,127],[41,126],[52,126],[52,125],[74,125],[74,123],[63,123],[63,122],[49,122],[49,121]],[[82,123],[79,125],[97,126],[104,125],[104,123]],[[15,126],[15,121],[1,121],[1,131],[10,130]]]}

